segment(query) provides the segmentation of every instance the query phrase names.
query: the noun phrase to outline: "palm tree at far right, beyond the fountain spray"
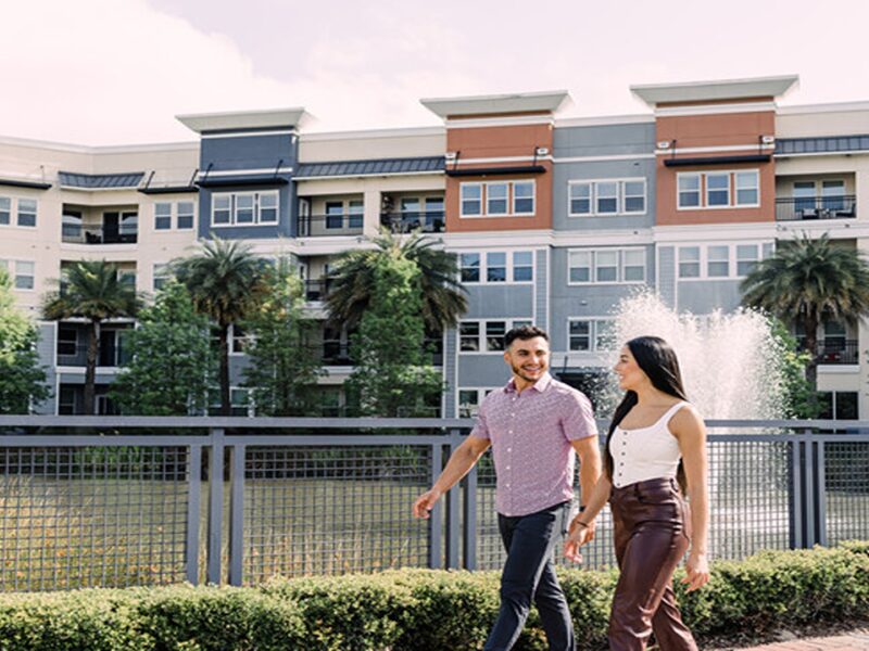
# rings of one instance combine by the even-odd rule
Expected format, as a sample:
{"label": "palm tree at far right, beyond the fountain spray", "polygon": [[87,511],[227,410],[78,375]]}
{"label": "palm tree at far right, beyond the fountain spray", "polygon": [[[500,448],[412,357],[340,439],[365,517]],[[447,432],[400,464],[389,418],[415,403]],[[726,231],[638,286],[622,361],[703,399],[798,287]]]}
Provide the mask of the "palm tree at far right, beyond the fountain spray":
{"label": "palm tree at far right, beyond the fountain spray", "polygon": [[827,234],[782,244],[742,282],[742,303],[804,328],[810,359],[806,379],[817,386],[818,327],[823,319],[854,324],[869,314],[869,263]]}

